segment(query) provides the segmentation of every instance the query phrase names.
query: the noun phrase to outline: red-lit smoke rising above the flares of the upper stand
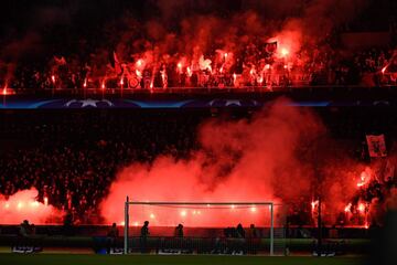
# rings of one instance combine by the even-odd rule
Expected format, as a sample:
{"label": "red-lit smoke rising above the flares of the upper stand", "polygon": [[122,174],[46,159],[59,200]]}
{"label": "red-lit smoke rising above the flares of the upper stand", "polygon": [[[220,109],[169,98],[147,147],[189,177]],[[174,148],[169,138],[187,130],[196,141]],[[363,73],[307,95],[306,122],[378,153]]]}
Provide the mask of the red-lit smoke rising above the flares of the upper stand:
{"label": "red-lit smoke rising above the flares of the upper stand", "polygon": [[[275,41],[273,59],[280,59],[279,63],[312,63],[318,56],[314,51],[322,55],[331,52],[333,30],[353,21],[365,7],[367,0],[152,0],[144,4],[143,22],[127,12],[105,26],[104,38],[114,43],[118,59],[129,68],[137,70],[135,63],[143,60],[139,72],[150,68],[158,73],[162,65],[170,71],[178,64],[194,72],[203,59],[212,68],[222,65],[221,72],[233,74],[242,62],[245,66],[257,64],[266,55],[265,44]],[[92,59],[96,71],[90,75],[94,80],[116,78],[121,70],[106,66],[112,51],[99,51]]]}

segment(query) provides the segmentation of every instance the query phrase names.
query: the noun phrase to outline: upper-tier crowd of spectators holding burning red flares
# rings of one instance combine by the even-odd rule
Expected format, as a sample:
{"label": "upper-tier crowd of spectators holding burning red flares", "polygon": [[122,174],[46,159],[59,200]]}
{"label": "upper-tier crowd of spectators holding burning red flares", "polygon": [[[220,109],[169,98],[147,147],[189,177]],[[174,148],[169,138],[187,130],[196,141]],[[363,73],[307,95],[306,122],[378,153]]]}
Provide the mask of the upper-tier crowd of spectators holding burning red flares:
{"label": "upper-tier crowd of spectators holding burning red flares", "polygon": [[[276,59],[272,53],[260,52],[264,45],[248,45],[239,57],[230,62],[217,60],[218,53],[208,56],[211,72],[179,68],[176,62],[153,62],[140,75],[137,62],[118,63],[112,60],[78,61],[76,54],[49,59],[42,65],[24,63],[15,67],[7,85],[15,91],[83,88],[163,88],[163,87],[242,87],[242,86],[318,86],[396,84],[396,56],[394,49],[339,52],[330,47],[302,50]],[[111,54],[108,54],[110,57]],[[237,55],[235,55],[237,56]],[[174,61],[178,59],[174,59]],[[194,67],[194,66],[192,66]],[[198,66],[197,66],[198,67]],[[237,76],[237,77],[236,77]],[[164,81],[165,78],[167,81]],[[120,81],[122,80],[122,85]],[[148,82],[146,81],[148,80]],[[6,81],[0,83],[4,85]]]}

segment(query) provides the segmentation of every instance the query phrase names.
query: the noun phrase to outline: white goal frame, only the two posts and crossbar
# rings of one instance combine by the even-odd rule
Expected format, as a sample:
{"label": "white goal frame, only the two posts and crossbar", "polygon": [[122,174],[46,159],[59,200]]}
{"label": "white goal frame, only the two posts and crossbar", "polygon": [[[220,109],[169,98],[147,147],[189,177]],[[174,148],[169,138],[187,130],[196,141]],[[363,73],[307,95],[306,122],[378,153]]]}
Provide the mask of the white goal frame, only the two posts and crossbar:
{"label": "white goal frame, only the two posts and crossbar", "polygon": [[124,254],[128,254],[128,234],[129,234],[129,205],[269,205],[270,208],[270,256],[273,255],[275,248],[275,219],[273,202],[140,202],[130,201],[127,197],[125,202],[125,227],[124,227]]}

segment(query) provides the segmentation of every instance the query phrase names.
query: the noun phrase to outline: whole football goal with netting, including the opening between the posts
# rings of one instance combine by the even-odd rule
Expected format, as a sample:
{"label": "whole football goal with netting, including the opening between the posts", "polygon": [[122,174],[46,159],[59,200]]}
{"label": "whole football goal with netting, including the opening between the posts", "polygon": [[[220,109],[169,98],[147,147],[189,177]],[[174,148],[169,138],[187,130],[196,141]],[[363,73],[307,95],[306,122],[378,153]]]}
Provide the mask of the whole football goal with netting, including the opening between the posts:
{"label": "whole football goal with netting, including the opening between the posts", "polygon": [[282,214],[272,202],[125,202],[124,253],[279,255]]}

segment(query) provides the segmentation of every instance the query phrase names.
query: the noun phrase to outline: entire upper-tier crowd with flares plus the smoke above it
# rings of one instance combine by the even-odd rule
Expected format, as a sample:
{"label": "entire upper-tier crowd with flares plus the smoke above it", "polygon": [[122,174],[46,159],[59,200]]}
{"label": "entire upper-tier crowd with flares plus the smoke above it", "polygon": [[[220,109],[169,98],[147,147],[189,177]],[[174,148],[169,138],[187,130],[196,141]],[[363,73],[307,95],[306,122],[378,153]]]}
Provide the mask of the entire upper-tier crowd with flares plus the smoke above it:
{"label": "entire upper-tier crowd with flares plus the smoke above it", "polygon": [[[396,82],[393,45],[363,52],[346,51],[341,43],[350,26],[366,29],[367,0],[101,1],[96,8],[88,2],[28,4],[14,31],[7,30],[6,21],[2,87],[32,92]],[[105,10],[107,15],[100,15]],[[41,19],[34,20],[36,15]],[[373,26],[382,24],[377,22]]]}

